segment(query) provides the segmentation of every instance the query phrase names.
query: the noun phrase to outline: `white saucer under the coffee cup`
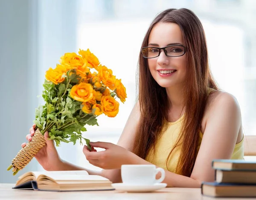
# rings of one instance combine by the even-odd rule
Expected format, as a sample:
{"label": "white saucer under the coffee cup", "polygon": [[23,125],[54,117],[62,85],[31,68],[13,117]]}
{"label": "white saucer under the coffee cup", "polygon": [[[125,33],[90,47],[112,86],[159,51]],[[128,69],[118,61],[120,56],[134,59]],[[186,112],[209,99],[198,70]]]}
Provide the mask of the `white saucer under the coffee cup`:
{"label": "white saucer under the coffee cup", "polygon": [[112,187],[116,190],[128,192],[149,192],[165,188],[166,183],[155,183],[154,185],[128,185],[125,183],[112,183]]}

